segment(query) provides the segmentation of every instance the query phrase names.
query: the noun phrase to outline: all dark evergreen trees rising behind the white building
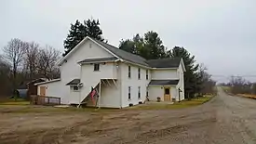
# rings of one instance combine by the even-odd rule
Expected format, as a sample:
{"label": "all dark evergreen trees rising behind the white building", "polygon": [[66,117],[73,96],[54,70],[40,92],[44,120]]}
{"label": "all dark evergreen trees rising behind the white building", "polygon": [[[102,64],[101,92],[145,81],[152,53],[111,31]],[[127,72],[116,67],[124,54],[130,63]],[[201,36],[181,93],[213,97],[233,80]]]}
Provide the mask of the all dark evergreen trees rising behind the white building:
{"label": "all dark evergreen trees rising behind the white building", "polygon": [[[74,46],[81,42],[86,36],[104,41],[99,20],[76,20],[71,24],[67,38],[64,40],[65,56]],[[186,72],[184,72],[184,86],[186,98],[195,97],[195,94],[213,93],[216,82],[211,79],[207,68],[203,64],[196,63],[195,56],[182,46],[168,49],[163,44],[158,33],[150,31],[141,36],[136,33],[131,39],[122,39],[120,49],[141,56],[144,59],[168,59],[182,58]]]}

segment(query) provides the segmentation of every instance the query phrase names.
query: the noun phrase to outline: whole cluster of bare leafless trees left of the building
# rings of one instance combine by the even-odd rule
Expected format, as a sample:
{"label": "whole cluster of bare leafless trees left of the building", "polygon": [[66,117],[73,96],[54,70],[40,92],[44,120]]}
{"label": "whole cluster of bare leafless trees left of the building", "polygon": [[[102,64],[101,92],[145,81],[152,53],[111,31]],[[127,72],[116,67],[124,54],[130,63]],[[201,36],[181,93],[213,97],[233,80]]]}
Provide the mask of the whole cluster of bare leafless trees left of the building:
{"label": "whole cluster of bare leafless trees left of the building", "polygon": [[60,77],[56,63],[61,52],[52,46],[39,46],[35,42],[11,39],[2,47],[0,56],[0,95],[7,95],[23,83],[36,78],[48,80]]}

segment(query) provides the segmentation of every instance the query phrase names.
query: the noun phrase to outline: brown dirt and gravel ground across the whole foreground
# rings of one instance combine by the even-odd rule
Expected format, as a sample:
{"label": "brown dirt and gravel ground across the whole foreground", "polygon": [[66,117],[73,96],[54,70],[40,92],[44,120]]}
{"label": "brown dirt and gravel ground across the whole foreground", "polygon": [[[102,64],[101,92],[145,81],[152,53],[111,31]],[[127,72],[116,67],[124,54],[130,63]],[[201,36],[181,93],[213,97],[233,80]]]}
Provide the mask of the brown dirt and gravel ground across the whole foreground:
{"label": "brown dirt and gravel ground across the whole foreground", "polygon": [[256,143],[256,100],[219,96],[181,110],[11,112],[0,107],[1,144]]}

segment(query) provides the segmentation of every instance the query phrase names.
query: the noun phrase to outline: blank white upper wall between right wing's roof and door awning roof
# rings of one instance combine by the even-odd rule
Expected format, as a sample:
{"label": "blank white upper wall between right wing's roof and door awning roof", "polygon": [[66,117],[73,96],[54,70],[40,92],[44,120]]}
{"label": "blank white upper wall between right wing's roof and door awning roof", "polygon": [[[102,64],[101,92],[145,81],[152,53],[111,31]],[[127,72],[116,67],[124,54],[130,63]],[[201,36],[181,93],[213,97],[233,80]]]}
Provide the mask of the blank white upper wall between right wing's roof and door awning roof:
{"label": "blank white upper wall between right wing's roof and door awning roof", "polygon": [[168,80],[168,79],[179,79],[177,75],[177,69],[169,70],[152,70],[152,79],[153,80]]}

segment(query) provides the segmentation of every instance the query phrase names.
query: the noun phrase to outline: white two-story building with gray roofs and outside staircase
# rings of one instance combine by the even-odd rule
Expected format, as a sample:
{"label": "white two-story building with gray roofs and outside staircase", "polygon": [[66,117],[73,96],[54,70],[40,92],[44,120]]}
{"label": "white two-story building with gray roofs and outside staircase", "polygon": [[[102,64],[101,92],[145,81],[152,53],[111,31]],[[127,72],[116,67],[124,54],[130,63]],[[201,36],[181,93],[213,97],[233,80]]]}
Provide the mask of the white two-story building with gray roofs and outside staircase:
{"label": "white two-story building with gray roofs and outside staircase", "polygon": [[157,98],[184,99],[182,59],[146,60],[86,37],[59,66],[60,79],[35,85],[38,95],[61,98],[62,104],[124,108]]}

